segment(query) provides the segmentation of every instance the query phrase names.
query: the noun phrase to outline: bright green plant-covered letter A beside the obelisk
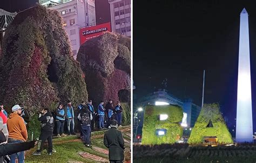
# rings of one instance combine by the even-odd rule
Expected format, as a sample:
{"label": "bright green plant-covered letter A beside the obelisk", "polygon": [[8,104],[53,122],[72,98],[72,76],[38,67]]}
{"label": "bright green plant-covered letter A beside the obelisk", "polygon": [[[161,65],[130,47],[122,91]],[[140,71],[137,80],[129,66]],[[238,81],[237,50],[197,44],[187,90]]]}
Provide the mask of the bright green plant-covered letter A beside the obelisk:
{"label": "bright green plant-covered letter A beside the obelisk", "polygon": [[[213,127],[206,127],[212,121]],[[192,129],[189,144],[201,144],[204,137],[217,137],[219,144],[232,143],[232,137],[219,111],[219,104],[204,104]]]}

